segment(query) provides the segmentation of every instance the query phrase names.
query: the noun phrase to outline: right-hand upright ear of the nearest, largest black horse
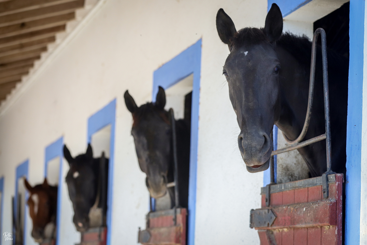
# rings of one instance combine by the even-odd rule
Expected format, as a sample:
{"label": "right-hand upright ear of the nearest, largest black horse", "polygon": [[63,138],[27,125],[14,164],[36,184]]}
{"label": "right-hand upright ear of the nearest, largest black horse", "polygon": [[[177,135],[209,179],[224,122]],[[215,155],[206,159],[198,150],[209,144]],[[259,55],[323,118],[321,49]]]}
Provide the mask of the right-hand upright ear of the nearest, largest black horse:
{"label": "right-hand upright ear of the nearest, largest black horse", "polygon": [[270,42],[274,42],[279,39],[282,32],[283,16],[281,15],[280,8],[273,3],[268,15],[266,15],[264,33]]}

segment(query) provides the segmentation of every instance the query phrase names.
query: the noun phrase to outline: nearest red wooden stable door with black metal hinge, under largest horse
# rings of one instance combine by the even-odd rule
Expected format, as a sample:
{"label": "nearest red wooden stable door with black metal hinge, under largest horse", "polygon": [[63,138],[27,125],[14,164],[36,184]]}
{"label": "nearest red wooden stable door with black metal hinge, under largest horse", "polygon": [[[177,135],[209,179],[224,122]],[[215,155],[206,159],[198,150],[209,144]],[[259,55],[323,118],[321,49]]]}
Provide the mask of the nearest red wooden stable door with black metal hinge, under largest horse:
{"label": "nearest red wooden stable door with black metal hinge, under largest horse", "polygon": [[342,245],[343,174],[328,175],[329,195],[323,198],[322,177],[261,189],[261,209],[251,210],[250,227],[261,245]]}

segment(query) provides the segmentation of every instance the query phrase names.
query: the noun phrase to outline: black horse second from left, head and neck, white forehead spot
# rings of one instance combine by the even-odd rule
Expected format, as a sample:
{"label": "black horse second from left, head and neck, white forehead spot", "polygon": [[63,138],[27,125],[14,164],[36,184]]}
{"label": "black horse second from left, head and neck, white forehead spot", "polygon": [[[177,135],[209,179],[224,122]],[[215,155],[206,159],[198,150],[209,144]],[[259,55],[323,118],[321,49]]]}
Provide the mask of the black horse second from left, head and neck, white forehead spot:
{"label": "black horse second from left, head and neck, white forehead spot", "polygon": [[104,154],[93,158],[90,144],[85,154],[75,158],[64,145],[63,154],[70,167],[65,180],[73,203],[76,230],[85,232],[90,227],[106,226],[108,158]]}

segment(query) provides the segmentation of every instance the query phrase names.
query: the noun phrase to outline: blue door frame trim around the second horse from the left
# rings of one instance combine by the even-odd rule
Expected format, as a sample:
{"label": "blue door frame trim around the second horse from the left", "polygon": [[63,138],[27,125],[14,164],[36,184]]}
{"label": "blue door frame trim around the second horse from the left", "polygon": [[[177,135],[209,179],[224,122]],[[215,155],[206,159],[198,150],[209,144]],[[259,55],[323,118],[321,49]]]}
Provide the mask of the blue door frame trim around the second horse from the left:
{"label": "blue door frame trim around the second horse from the left", "polygon": [[111,101],[108,105],[96,112],[88,118],[88,132],[87,142],[90,143],[92,135],[105,126],[111,125],[110,135],[110,158],[108,163],[108,191],[107,191],[107,241],[109,245],[111,242],[111,222],[112,222],[112,194],[113,194],[113,163],[115,150],[115,117],[116,117],[116,99]]}

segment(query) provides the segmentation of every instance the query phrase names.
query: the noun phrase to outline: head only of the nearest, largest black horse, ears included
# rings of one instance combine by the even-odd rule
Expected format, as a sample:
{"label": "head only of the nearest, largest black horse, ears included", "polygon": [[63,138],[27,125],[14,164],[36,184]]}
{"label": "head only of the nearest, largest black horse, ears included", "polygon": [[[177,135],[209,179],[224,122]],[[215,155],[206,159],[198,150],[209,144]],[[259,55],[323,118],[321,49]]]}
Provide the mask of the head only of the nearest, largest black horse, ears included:
{"label": "head only of the nearest, largest black horse, ears included", "polygon": [[280,116],[280,62],[276,40],[283,31],[279,7],[272,4],[265,28],[236,31],[232,19],[219,9],[217,31],[230,54],[224,67],[229,98],[241,129],[238,146],[249,172],[268,169],[272,153],[273,125]]}

